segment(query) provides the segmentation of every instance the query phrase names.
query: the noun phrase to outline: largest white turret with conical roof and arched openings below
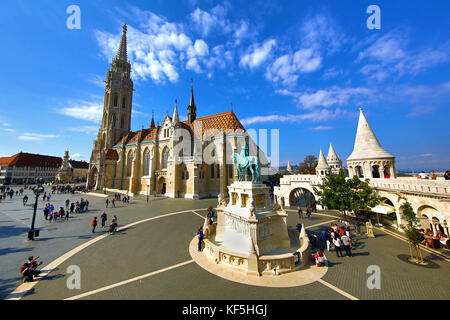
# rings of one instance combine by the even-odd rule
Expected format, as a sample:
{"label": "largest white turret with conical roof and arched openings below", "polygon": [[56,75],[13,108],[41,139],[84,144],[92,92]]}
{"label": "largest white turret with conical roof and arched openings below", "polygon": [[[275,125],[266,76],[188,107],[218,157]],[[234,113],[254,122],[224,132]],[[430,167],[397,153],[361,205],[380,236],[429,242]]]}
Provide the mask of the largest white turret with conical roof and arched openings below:
{"label": "largest white turret with conical roof and arched openings below", "polygon": [[350,176],[396,177],[395,157],[381,147],[367,119],[359,109],[358,128],[352,154],[347,158]]}

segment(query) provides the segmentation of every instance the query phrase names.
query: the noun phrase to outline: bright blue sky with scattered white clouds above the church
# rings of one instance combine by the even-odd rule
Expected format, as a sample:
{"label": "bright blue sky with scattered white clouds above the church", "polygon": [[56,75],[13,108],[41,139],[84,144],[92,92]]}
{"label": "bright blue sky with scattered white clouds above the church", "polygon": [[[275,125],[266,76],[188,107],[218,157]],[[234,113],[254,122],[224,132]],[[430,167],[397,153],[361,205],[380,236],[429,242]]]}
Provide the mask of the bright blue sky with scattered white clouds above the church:
{"label": "bright blue sky with scattered white clouds above the church", "polygon": [[[81,9],[69,30],[66,9]],[[369,30],[366,9],[381,9]],[[89,161],[104,87],[128,25],[132,129],[230,110],[247,129],[280,130],[280,164],[345,160],[363,107],[399,169],[450,165],[448,1],[2,1],[0,156]]]}

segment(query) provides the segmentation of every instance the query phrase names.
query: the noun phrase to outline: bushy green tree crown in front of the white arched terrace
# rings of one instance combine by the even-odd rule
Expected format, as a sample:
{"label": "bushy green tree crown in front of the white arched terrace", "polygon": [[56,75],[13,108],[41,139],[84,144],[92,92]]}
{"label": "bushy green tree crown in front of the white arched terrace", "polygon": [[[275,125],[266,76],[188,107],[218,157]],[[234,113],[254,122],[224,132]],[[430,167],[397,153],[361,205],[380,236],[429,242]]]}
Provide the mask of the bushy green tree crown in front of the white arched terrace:
{"label": "bushy green tree crown in front of the white arched terrace", "polygon": [[341,169],[337,175],[327,175],[318,188],[313,187],[317,203],[330,209],[338,209],[347,219],[347,211],[369,211],[380,200],[369,186],[369,182],[358,177],[346,179]]}

